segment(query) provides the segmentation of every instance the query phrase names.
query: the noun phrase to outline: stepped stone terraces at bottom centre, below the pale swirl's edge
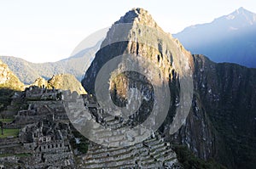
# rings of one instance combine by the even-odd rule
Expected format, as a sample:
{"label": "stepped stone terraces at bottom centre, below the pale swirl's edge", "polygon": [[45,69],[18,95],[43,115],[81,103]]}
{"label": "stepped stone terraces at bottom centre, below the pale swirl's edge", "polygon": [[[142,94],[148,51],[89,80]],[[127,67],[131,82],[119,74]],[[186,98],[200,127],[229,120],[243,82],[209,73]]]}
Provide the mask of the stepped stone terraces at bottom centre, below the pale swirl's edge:
{"label": "stepped stone terraces at bottom centre, below the pale swirl's edge", "polygon": [[178,168],[175,152],[160,135],[127,147],[91,144],[81,168]]}

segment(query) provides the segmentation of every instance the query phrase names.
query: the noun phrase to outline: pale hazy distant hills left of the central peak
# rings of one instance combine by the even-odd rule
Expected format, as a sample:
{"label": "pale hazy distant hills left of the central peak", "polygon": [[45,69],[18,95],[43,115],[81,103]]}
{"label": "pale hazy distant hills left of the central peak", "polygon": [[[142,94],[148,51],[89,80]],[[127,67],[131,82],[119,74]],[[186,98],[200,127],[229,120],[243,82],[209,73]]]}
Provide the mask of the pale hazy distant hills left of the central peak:
{"label": "pale hazy distant hills left of the central peak", "polygon": [[57,62],[35,64],[13,56],[0,56],[0,59],[9,65],[9,68],[25,84],[31,84],[41,76],[49,79],[51,76],[61,73],[72,74],[81,81],[82,76],[84,76],[84,70],[87,69],[87,65],[84,65],[84,60],[93,59],[100,44],[101,42],[97,42],[93,47],[85,48],[70,58]]}

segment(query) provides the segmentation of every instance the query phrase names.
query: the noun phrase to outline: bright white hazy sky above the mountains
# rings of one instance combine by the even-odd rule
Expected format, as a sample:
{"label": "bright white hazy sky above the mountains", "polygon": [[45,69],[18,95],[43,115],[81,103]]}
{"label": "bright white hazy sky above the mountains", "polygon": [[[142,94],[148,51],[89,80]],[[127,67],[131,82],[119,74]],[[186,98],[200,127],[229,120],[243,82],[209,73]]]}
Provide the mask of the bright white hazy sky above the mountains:
{"label": "bright white hazy sky above the mountains", "polygon": [[67,58],[84,37],[135,7],[147,9],[171,33],[240,7],[256,13],[255,0],[0,0],[0,55],[32,62]]}

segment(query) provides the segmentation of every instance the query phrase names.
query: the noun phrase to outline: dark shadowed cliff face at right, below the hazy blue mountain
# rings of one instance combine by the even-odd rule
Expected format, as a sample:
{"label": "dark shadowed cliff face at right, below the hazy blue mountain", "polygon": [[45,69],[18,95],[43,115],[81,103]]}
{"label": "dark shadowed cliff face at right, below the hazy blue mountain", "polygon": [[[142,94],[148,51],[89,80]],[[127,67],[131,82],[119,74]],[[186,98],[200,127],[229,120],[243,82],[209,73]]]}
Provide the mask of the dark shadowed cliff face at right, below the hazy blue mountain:
{"label": "dark shadowed cliff face at right, below the hazy blue mountain", "polygon": [[233,168],[253,168],[256,70],[215,64],[202,55],[194,55],[194,60],[195,91],[216,131],[215,156]]}

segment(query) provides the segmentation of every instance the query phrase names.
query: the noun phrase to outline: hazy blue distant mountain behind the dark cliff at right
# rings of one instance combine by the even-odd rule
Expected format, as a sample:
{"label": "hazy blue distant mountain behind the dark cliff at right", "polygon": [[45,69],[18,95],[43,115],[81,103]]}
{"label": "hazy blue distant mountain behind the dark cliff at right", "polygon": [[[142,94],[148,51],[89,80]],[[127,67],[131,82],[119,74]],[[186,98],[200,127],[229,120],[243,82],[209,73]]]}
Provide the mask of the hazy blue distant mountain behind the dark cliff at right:
{"label": "hazy blue distant mountain behind the dark cliff at right", "polygon": [[173,35],[192,54],[215,62],[256,67],[256,14],[238,8],[211,23],[192,25]]}

